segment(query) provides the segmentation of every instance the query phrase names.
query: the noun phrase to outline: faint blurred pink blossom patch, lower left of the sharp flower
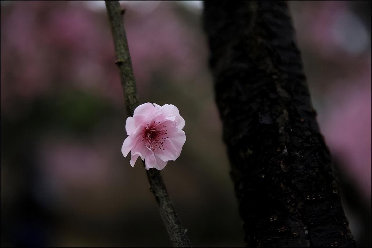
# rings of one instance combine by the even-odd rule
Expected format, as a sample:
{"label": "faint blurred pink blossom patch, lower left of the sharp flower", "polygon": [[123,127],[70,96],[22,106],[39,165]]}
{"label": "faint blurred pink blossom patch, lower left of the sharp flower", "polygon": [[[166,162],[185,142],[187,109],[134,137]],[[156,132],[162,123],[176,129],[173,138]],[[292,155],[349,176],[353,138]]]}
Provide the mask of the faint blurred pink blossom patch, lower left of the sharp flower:
{"label": "faint blurred pink blossom patch, lower left of the sharp flower", "polygon": [[[105,142],[102,138],[100,141]],[[42,138],[38,164],[43,178],[59,191],[107,186],[111,177],[109,165],[114,164],[115,159],[113,149],[107,144],[85,144],[72,138]]]}

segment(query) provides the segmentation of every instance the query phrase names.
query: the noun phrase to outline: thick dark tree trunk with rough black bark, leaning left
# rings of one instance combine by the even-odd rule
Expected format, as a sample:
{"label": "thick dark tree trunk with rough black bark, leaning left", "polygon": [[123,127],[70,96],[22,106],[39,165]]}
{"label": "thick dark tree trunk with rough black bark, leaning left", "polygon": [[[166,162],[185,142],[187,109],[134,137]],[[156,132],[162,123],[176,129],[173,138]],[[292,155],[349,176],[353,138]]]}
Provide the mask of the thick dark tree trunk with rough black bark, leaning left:
{"label": "thick dark tree trunk with rough black bark, leaning left", "polygon": [[206,1],[203,18],[248,246],[356,246],[286,3]]}

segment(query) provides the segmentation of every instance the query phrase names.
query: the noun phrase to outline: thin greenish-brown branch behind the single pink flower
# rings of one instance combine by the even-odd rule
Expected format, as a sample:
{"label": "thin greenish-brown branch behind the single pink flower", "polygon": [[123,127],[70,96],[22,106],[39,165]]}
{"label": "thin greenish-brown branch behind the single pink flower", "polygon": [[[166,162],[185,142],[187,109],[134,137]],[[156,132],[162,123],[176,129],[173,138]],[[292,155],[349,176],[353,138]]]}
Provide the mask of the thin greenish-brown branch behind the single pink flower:
{"label": "thin greenish-brown branch behind the single pink flower", "polygon": [[[124,93],[126,112],[133,115],[135,107],[138,106],[137,88],[133,74],[131,56],[129,54],[128,42],[123,24],[123,10],[119,1],[105,1],[106,10],[112,30],[115,45],[115,64],[120,70],[121,85]],[[190,241],[185,229],[182,228],[177,216],[176,209],[170,199],[167,188],[161,177],[160,171],[150,169],[146,171],[150,183],[150,191],[154,194],[158,203],[160,215],[168,231],[174,247],[190,247]]]}

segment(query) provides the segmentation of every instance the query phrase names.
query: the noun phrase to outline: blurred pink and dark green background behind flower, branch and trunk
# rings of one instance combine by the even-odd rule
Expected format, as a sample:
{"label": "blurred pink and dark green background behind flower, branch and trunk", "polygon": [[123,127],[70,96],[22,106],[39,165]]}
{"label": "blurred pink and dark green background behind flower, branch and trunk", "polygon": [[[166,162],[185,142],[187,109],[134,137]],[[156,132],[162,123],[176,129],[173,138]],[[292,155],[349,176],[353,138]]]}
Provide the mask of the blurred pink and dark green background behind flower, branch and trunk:
{"label": "blurred pink and dark green background behind flower, branch and trunk", "polygon": [[[141,103],[187,140],[162,171],[193,246],[245,246],[201,1],[121,1]],[[371,245],[371,1],[289,2],[359,245]],[[1,1],[1,246],[171,246],[125,107],[103,1]]]}

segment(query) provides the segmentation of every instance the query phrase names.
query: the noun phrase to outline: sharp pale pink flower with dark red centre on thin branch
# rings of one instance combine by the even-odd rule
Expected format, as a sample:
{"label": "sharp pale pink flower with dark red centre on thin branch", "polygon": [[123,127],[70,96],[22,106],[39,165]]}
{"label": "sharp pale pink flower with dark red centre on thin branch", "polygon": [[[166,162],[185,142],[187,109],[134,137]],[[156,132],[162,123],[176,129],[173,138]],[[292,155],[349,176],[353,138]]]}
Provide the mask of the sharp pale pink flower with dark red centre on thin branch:
{"label": "sharp pale pink flower with dark red centre on thin branch", "polygon": [[134,110],[133,117],[126,119],[128,137],[121,152],[126,157],[131,151],[132,167],[140,156],[145,160],[146,170],[163,170],[169,160],[176,160],[181,154],[186,141],[184,126],[185,120],[176,106],[144,103]]}

